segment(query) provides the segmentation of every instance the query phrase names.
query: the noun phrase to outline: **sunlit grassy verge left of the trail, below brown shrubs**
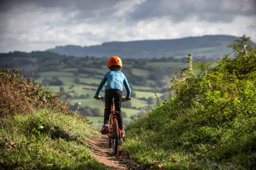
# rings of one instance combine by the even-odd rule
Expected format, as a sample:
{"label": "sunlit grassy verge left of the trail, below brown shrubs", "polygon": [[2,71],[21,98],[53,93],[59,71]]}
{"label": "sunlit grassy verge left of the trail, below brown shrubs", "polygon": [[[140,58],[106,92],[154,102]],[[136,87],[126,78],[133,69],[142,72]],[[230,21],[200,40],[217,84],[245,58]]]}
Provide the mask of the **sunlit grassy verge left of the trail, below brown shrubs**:
{"label": "sunlit grassy verge left of the trail, below brown shrubs", "polygon": [[0,128],[3,169],[107,169],[86,138],[98,132],[84,117],[38,110],[5,118]]}

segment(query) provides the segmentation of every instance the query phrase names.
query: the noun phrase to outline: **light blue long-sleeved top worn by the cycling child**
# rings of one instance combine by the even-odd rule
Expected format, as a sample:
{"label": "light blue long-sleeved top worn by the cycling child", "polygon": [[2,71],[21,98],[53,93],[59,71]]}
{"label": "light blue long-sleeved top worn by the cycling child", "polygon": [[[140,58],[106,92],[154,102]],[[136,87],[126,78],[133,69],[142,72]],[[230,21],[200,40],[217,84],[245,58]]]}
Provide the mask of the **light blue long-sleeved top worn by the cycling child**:
{"label": "light blue long-sleeved top worn by the cycling child", "polygon": [[103,88],[104,84],[107,81],[107,85],[105,87],[105,91],[108,89],[119,89],[123,91],[123,85],[126,89],[126,97],[129,98],[131,95],[131,89],[127,82],[127,79],[125,75],[121,71],[109,71],[107,72],[102,81],[100,82],[100,85],[95,93],[96,97],[99,97],[100,91]]}

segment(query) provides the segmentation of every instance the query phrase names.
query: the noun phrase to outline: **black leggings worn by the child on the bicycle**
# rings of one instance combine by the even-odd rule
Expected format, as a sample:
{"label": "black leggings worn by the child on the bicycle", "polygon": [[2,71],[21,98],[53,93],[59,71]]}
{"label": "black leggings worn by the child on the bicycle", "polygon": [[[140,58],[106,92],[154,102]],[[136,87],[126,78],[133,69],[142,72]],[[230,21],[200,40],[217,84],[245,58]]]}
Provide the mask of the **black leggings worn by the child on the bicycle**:
{"label": "black leggings worn by the child on the bicycle", "polygon": [[116,119],[120,130],[123,130],[123,117],[121,112],[123,92],[119,89],[108,89],[105,91],[105,109],[104,109],[104,124],[109,124],[109,116],[111,112],[111,104],[114,98],[115,109],[118,111]]}

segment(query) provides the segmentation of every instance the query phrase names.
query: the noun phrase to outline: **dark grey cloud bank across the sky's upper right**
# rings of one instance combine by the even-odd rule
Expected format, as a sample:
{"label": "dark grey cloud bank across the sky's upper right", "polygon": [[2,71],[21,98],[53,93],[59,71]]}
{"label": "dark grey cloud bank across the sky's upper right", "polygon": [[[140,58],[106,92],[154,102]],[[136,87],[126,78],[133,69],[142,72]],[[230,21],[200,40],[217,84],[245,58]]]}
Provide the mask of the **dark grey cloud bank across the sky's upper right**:
{"label": "dark grey cloud bank across the sky's upper right", "polygon": [[153,1],[147,0],[135,6],[129,14],[133,20],[144,20],[151,17],[169,17],[174,22],[192,17],[211,22],[231,22],[237,15],[256,16],[256,1]]}

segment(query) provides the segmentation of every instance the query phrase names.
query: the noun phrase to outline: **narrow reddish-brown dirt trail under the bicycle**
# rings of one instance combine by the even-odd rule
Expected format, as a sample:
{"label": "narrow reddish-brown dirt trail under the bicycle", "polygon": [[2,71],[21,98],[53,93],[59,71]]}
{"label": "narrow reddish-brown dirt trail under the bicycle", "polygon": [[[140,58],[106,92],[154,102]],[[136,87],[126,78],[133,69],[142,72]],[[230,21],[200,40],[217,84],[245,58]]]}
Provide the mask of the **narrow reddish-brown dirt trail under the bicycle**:
{"label": "narrow reddish-brown dirt trail under the bicycle", "polygon": [[109,138],[107,136],[100,136],[97,139],[88,138],[87,142],[98,157],[99,162],[110,169],[128,169],[127,165],[121,163],[121,159],[118,156],[113,155],[112,148],[109,149]]}

